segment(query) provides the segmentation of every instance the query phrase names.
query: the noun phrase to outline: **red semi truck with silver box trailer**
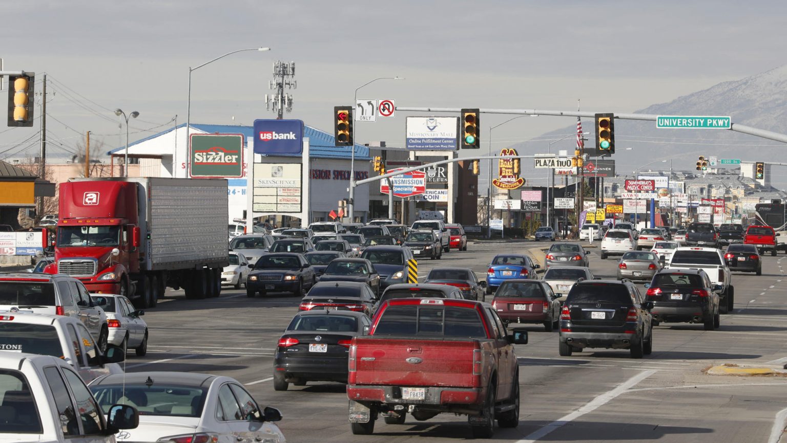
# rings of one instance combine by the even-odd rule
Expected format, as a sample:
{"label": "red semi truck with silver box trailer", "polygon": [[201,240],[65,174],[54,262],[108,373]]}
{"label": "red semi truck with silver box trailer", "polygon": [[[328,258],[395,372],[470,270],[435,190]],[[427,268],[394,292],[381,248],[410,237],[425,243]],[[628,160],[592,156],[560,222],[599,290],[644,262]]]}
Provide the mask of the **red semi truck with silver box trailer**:
{"label": "red semi truck with silver box trailer", "polygon": [[156,306],[167,287],[218,297],[228,263],[227,181],[72,178],[60,185],[55,262],[88,291]]}

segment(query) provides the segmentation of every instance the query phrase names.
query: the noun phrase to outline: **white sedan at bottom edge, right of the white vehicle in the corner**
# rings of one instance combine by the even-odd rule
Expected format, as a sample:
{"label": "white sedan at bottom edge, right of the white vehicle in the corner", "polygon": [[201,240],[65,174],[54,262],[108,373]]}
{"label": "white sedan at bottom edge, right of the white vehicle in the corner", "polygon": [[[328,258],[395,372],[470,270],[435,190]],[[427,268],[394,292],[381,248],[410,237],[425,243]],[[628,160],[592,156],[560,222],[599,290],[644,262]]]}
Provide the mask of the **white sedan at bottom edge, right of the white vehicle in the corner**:
{"label": "white sedan at bottom edge, right of the white vehicle in the corner", "polygon": [[139,410],[125,441],[270,441],[283,443],[276,408],[261,408],[238,380],[192,372],[130,372],[90,384],[105,413],[122,403]]}

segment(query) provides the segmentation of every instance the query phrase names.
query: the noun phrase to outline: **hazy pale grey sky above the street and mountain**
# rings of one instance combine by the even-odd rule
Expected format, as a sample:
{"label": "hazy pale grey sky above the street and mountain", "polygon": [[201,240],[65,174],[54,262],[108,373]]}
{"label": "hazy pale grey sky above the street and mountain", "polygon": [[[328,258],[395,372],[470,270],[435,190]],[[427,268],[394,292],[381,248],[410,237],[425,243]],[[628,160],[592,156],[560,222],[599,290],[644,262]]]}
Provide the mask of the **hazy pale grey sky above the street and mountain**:
{"label": "hazy pale grey sky above the street and mountain", "polygon": [[[547,109],[575,109],[581,99],[588,111],[631,112],[785,64],[787,53],[783,1],[31,0],[6,5],[5,16],[6,70],[35,71],[39,92],[40,74],[50,76],[50,155],[72,150],[87,130],[106,148],[121,145],[114,108],[140,112],[131,141],[175,115],[185,123],[188,68],[235,49],[272,47],[194,71],[192,123],[274,117],[264,94],[275,60],[297,67],[286,118],[332,130],[332,107],[377,77],[405,80],[375,82],[359,98]],[[358,123],[356,140],[401,145],[405,115]],[[483,137],[508,118],[482,115]],[[493,148],[571,123],[518,119],[493,132]],[[0,128],[0,159],[35,156],[38,130]]]}

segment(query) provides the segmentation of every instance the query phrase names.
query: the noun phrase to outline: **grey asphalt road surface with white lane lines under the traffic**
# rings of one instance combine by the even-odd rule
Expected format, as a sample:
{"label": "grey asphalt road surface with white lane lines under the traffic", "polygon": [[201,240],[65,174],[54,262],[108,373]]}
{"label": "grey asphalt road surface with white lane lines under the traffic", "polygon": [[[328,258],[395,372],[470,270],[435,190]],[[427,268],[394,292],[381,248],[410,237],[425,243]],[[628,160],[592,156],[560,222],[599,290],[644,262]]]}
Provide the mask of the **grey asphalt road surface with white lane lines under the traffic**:
{"label": "grey asphalt road surface with white lane lines under the traffic", "polygon": [[[419,263],[468,266],[483,278],[494,254],[537,243],[483,242],[468,251]],[[559,357],[558,334],[529,327],[530,344],[517,346],[522,409],[519,427],[497,429],[493,441],[768,442],[787,414],[787,378],[706,375],[717,364],[787,363],[787,277],[784,255],[763,257],[763,275],[733,274],[735,309],[721,328],[667,324],[654,329],[653,353],[633,360],[628,351],[597,350]],[[615,276],[615,258],[591,254],[597,276]],[[489,297],[489,296],[488,296]],[[225,289],[220,298],[190,301],[168,291],[144,317],[150,328],[146,357],[127,371],[185,371],[228,375],[244,383],[261,405],[283,412],[287,441],[458,441],[470,437],[465,416],[440,415],[404,425],[375,424],[375,434],[351,434],[345,387],[309,383],[276,392],[272,357],[279,335],[297,312],[291,296],[247,298]],[[787,437],[782,438],[787,441]]]}

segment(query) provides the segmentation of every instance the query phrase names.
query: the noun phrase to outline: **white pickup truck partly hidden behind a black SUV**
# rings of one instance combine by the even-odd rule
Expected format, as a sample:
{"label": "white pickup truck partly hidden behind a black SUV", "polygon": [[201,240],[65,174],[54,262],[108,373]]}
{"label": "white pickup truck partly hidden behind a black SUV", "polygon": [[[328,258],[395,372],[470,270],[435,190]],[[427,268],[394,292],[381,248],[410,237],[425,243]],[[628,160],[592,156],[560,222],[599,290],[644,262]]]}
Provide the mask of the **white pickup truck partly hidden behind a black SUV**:
{"label": "white pickup truck partly hidden behind a black SUV", "polygon": [[672,259],[664,269],[703,269],[711,279],[711,284],[721,285],[719,292],[719,313],[733,310],[735,287],[732,273],[724,260],[724,254],[715,247],[677,247]]}

